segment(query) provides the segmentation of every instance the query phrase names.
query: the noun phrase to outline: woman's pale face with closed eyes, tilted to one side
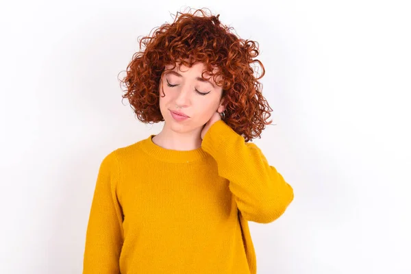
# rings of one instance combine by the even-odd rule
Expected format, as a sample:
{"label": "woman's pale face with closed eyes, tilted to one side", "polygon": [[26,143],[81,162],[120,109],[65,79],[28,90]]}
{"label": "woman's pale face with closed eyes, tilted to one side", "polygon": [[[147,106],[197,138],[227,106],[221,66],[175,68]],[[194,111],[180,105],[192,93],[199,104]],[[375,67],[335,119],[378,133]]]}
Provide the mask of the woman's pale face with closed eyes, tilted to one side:
{"label": "woman's pale face with closed eyes, tilted to one side", "polygon": [[[171,68],[172,65],[165,67]],[[174,132],[192,132],[195,129],[201,131],[214,112],[224,110],[221,99],[223,89],[216,85],[210,74],[204,73],[205,78],[201,78],[201,73],[205,69],[203,63],[196,63],[191,68],[177,64],[173,71],[165,71],[162,75],[160,111],[166,127]],[[182,112],[188,118],[176,119],[171,114],[175,111]]]}

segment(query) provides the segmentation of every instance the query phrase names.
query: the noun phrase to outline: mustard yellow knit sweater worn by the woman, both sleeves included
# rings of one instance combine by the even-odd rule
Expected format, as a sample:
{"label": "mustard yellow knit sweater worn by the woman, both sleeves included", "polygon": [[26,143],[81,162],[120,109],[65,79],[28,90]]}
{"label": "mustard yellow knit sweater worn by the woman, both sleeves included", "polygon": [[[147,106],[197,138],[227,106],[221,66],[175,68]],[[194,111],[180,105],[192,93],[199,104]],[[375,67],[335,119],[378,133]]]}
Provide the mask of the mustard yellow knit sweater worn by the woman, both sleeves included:
{"label": "mustard yellow knit sweater worn by the woman, both sleeves included", "polygon": [[164,149],[153,136],[101,162],[83,273],[255,274],[247,221],[281,216],[291,186],[224,121],[191,151]]}

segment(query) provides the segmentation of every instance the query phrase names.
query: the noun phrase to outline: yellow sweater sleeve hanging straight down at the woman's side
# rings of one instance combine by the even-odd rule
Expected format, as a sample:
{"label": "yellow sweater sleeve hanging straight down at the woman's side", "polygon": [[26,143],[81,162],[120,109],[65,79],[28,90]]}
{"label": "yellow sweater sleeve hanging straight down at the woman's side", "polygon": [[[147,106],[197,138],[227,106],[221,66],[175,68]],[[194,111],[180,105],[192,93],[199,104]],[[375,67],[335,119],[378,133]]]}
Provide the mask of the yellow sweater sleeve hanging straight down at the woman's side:
{"label": "yellow sweater sleeve hanging straight down at the woman's side", "polygon": [[83,274],[119,274],[123,214],[116,198],[119,162],[114,154],[101,162],[86,232]]}

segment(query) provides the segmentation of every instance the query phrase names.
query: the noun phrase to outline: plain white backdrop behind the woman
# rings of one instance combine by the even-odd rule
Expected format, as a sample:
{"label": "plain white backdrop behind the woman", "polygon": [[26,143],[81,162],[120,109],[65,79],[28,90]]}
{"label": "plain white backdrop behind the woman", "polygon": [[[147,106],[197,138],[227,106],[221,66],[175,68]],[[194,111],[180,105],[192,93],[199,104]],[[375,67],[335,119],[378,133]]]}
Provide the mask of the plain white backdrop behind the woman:
{"label": "plain white backdrop behind the woman", "polygon": [[411,273],[406,2],[2,1],[0,273],[82,273],[101,160],[162,128],[119,73],[187,7],[260,45],[276,125],[254,142],[295,200],[249,222],[258,273]]}

